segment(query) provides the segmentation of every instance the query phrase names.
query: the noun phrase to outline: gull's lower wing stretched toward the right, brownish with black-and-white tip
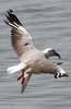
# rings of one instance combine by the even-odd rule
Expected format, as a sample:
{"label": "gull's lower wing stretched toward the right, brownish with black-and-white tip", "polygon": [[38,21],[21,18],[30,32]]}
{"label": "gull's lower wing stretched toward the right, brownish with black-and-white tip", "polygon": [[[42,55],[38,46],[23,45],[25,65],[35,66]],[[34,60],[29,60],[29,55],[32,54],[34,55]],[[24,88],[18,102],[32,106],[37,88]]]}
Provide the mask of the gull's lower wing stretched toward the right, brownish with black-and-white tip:
{"label": "gull's lower wing stretched toward the right, brownish with black-and-white tip", "polygon": [[54,77],[68,77],[69,75],[62,70],[61,66],[46,60],[45,58],[34,62],[32,65],[32,73],[48,73],[54,74]]}

